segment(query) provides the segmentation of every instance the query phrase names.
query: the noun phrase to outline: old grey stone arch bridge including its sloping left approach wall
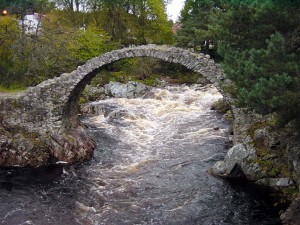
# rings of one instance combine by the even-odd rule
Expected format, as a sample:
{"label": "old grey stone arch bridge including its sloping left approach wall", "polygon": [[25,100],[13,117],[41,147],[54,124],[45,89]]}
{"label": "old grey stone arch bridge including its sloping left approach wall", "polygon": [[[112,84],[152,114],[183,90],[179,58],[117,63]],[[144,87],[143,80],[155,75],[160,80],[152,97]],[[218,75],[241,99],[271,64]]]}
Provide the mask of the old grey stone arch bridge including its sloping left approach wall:
{"label": "old grey stone arch bridge including its sloping left approach wall", "polygon": [[64,145],[68,138],[62,135],[78,125],[78,102],[81,92],[102,66],[132,57],[153,57],[181,64],[203,75],[224,94],[221,86],[228,80],[220,66],[209,56],[175,47],[145,45],[105,53],[87,61],[71,73],[46,80],[18,95],[0,97],[0,122],[5,122],[9,127],[15,127],[17,130],[26,130],[42,136],[48,135],[51,138],[48,138],[47,142],[55,140],[56,143],[53,147],[53,141],[50,141],[52,149],[57,148],[58,145],[61,148],[60,153],[53,153],[54,156],[59,160],[67,160],[59,156],[59,154],[66,155],[62,151],[65,151],[63,149],[66,148]]}

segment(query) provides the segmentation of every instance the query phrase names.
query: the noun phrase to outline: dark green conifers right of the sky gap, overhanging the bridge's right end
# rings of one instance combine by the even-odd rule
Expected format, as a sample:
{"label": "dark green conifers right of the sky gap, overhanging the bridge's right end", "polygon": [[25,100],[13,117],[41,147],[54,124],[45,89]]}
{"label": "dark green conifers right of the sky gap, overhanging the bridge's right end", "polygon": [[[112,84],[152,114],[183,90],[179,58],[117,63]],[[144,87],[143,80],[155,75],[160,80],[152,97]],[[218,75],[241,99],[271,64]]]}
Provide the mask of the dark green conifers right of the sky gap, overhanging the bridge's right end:
{"label": "dark green conifers right of the sky gap, overhanging the bridge's right end", "polygon": [[175,40],[205,53],[209,40],[236,103],[288,120],[300,118],[299,21],[294,0],[187,0]]}

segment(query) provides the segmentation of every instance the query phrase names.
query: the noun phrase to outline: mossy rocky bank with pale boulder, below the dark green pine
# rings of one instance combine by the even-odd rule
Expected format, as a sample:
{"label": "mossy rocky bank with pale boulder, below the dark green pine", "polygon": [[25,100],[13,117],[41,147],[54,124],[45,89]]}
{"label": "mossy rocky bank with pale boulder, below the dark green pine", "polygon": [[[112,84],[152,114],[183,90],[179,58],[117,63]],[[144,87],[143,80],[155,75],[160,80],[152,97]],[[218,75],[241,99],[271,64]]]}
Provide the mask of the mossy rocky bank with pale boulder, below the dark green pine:
{"label": "mossy rocky bank with pale boulder, below the dark green pine", "polygon": [[263,116],[224,105],[219,102],[214,108],[226,112],[232,122],[233,147],[210,172],[270,187],[280,195],[276,204],[293,202],[281,215],[283,223],[299,224],[300,200],[296,197],[300,187],[300,139],[294,123],[278,127],[275,114]]}

